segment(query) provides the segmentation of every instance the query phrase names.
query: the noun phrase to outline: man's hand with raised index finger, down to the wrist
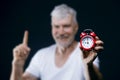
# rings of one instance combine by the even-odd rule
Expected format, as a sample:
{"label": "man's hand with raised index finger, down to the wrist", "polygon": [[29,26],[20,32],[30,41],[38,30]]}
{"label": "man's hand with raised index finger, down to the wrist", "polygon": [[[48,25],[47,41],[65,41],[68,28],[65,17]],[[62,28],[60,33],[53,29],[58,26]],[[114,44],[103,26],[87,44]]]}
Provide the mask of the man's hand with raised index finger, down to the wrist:
{"label": "man's hand with raised index finger, down to the wrist", "polygon": [[28,47],[28,31],[25,31],[23,42],[13,49],[13,64],[17,66],[24,66],[29,52],[30,48]]}

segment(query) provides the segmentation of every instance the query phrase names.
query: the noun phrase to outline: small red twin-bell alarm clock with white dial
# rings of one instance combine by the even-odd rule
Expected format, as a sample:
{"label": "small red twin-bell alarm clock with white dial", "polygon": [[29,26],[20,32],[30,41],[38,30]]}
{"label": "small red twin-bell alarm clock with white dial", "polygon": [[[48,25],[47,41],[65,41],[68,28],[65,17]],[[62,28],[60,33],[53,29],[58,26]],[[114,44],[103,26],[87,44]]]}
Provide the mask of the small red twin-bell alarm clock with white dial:
{"label": "small red twin-bell alarm clock with white dial", "polygon": [[85,29],[80,34],[80,47],[86,51],[92,50],[95,46],[95,37],[96,34],[92,29]]}

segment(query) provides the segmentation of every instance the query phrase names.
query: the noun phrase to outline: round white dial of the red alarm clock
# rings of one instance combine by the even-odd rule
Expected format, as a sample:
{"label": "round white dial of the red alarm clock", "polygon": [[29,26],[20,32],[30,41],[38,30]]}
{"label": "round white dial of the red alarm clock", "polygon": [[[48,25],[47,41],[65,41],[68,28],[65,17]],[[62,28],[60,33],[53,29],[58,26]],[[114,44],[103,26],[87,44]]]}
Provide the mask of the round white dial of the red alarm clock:
{"label": "round white dial of the red alarm clock", "polygon": [[91,36],[85,36],[81,40],[81,45],[84,49],[91,49],[94,45],[94,39]]}

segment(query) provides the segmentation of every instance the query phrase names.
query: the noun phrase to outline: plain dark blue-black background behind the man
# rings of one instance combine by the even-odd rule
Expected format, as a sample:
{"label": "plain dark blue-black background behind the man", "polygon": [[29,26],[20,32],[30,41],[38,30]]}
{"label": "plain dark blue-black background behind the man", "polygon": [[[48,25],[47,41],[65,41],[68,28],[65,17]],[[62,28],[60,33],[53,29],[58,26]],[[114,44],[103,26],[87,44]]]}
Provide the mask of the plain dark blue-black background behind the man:
{"label": "plain dark blue-black background behind the man", "polygon": [[[85,28],[92,28],[104,41],[104,50],[98,55],[105,80],[119,78],[119,0],[1,0],[0,1],[0,80],[9,80],[12,49],[22,42],[29,31],[30,56],[54,43],[51,37],[50,12],[55,5],[66,3],[78,12],[80,25],[76,40]],[[119,79],[117,79],[119,80]]]}

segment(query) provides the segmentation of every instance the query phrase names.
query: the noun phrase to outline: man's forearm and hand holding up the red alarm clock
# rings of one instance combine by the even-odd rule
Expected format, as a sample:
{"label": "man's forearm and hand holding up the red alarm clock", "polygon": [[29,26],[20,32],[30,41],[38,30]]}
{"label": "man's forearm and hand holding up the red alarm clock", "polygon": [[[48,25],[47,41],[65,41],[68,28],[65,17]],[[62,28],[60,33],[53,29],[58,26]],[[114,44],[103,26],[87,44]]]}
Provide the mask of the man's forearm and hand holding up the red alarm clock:
{"label": "man's forearm and hand holding up the red alarm clock", "polygon": [[93,61],[97,57],[97,52],[103,49],[103,41],[96,37],[96,46],[94,50],[83,51],[84,62],[84,76],[85,80],[102,80],[102,74],[99,69],[93,64]]}

